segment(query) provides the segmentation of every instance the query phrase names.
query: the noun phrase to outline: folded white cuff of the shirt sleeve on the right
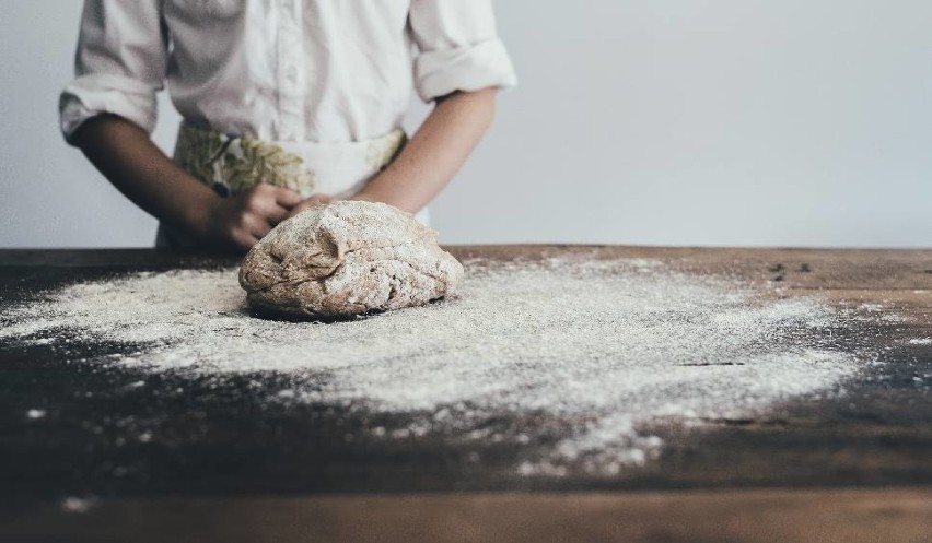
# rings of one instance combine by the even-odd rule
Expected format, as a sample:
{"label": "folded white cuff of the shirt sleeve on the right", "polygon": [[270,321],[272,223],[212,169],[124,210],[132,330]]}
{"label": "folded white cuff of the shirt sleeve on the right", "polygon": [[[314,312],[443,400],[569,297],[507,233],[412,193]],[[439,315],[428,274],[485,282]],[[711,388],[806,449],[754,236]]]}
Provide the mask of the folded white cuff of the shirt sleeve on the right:
{"label": "folded white cuff of the shirt sleeve on the right", "polygon": [[415,81],[424,102],[455,91],[510,88],[517,83],[504,44],[498,38],[478,44],[422,51],[415,59]]}

